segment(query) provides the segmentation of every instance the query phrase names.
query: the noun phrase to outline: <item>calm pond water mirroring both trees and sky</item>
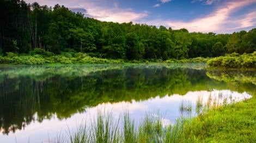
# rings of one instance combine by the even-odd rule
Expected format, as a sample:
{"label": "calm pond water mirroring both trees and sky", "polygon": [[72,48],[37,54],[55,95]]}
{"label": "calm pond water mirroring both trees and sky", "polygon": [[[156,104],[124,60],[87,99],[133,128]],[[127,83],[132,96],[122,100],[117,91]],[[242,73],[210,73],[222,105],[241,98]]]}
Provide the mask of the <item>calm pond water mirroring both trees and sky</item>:
{"label": "calm pond water mirroring both trees and sky", "polygon": [[256,92],[255,71],[204,66],[2,66],[0,142],[54,142],[99,110],[119,118],[128,109],[136,122],[160,114],[169,125],[197,115],[198,100],[223,104]]}

